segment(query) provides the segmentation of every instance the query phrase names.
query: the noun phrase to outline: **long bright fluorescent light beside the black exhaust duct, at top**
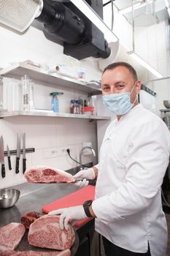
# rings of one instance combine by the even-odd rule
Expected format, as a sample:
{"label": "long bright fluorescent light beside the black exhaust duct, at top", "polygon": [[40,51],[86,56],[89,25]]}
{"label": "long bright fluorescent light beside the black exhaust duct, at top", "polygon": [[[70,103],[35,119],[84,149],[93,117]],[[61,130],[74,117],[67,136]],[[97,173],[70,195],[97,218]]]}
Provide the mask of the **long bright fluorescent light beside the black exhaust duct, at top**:
{"label": "long bright fluorescent light beside the black exhaust duct, at top", "polygon": [[118,38],[111,29],[104,23],[98,14],[88,5],[85,0],[71,0],[72,3],[98,28],[104,33],[107,42],[117,42]]}

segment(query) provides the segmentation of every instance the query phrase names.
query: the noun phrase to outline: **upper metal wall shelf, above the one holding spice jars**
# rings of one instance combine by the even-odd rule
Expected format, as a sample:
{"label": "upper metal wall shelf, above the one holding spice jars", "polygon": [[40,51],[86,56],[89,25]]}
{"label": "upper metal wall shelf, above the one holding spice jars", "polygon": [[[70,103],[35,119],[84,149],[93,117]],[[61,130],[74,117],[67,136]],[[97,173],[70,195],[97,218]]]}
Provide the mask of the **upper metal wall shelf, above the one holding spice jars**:
{"label": "upper metal wall shelf, above the one holding spice jars", "polygon": [[85,91],[89,94],[101,94],[101,88],[94,83],[87,82],[60,75],[57,72],[55,75],[49,74],[40,67],[35,67],[25,62],[12,64],[10,67],[0,70],[0,75],[9,78],[21,78],[23,75],[28,75],[33,80],[39,80],[47,85],[63,86],[65,88],[74,89],[76,91]]}

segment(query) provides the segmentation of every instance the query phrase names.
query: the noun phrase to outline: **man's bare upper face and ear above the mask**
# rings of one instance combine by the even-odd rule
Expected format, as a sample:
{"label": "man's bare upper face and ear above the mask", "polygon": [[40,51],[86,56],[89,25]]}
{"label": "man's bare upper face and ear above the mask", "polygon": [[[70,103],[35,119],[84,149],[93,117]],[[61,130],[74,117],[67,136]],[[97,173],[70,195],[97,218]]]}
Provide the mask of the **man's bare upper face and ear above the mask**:
{"label": "man's bare upper face and ear above the mask", "polygon": [[126,67],[116,67],[115,69],[107,70],[101,78],[103,95],[131,92],[133,89],[131,92],[131,102],[134,102],[136,94],[139,94],[140,88],[141,82],[139,80],[135,81],[133,75]]}

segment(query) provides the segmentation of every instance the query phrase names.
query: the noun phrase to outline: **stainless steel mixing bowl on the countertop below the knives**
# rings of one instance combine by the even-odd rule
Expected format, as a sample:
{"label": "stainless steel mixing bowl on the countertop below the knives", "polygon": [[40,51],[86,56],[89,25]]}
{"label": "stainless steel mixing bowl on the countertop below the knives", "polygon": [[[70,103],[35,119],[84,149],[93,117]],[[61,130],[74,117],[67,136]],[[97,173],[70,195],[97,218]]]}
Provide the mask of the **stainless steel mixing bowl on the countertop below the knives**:
{"label": "stainless steel mixing bowl on the countertop below the knives", "polygon": [[9,208],[17,203],[20,197],[18,189],[0,189],[0,208]]}

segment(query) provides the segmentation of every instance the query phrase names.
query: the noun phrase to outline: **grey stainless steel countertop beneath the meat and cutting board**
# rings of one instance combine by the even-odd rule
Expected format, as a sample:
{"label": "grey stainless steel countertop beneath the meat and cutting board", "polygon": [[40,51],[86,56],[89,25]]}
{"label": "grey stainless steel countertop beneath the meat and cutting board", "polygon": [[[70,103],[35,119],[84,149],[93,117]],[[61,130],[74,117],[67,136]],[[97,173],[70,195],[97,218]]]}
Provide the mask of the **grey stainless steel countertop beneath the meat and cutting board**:
{"label": "grey stainless steel countertop beneath the meat and cutting board", "polygon": [[[42,212],[42,206],[58,200],[65,195],[77,191],[74,184],[20,184],[12,188],[20,190],[20,198],[15,206],[11,208],[0,208],[0,227],[10,222],[20,222],[20,218],[30,211]],[[74,245],[72,255],[77,250],[77,243]],[[27,233],[23,237],[17,250],[39,250],[49,251],[49,249],[36,248],[30,246],[27,241]]]}

